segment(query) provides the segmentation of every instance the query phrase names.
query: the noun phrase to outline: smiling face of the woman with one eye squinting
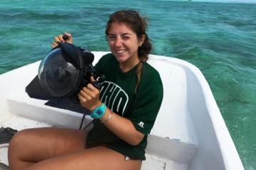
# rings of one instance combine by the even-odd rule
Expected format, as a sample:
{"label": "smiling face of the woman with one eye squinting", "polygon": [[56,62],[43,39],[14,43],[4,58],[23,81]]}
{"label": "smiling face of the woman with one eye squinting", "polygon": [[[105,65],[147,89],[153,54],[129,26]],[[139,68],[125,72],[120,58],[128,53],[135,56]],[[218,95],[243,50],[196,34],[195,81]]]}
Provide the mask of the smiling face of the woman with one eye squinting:
{"label": "smiling face of the woman with one eye squinting", "polygon": [[138,40],[136,33],[127,25],[119,22],[112,23],[107,39],[112,54],[120,64],[139,62],[138,47],[144,40]]}

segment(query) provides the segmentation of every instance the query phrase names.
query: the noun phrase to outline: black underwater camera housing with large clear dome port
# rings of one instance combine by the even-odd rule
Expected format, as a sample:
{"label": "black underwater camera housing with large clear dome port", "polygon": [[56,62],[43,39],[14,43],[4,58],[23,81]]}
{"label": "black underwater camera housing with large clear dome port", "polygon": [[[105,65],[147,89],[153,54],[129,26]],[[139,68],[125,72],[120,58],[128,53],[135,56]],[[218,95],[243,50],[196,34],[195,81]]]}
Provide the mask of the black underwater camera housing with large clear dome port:
{"label": "black underwater camera housing with large clear dome port", "polygon": [[[31,98],[42,100],[69,98],[79,103],[78,93],[95,77],[92,67],[94,55],[68,42],[60,42],[46,57],[38,69],[38,75],[26,86]],[[100,89],[102,79],[93,83]]]}

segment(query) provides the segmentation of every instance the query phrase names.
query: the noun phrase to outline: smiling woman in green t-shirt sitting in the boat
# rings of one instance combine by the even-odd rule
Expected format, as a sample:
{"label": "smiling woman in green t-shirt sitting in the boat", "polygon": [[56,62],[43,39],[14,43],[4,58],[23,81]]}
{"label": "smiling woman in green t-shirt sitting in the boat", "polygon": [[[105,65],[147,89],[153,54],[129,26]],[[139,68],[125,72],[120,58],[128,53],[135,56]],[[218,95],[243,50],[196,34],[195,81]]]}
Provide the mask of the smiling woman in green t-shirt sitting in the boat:
{"label": "smiling woman in green t-shirt sitting in the boat", "polygon": [[[146,63],[151,51],[146,22],[136,11],[117,11],[105,33],[112,53],[95,66],[97,75],[105,74],[102,88],[88,84],[78,94],[92,112],[92,130],[22,130],[9,145],[11,169],[141,168],[163,97],[159,73]],[[65,34],[68,40],[58,35],[52,47],[73,43]]]}

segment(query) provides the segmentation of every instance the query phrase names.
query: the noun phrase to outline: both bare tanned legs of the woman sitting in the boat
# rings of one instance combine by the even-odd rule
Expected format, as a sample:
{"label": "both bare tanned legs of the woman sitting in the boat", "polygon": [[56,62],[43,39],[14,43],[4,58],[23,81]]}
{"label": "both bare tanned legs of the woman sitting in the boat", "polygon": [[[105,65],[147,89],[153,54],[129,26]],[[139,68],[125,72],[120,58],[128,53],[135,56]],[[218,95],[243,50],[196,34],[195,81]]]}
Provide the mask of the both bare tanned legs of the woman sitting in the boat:
{"label": "both bare tanned legs of the woman sitting in the boat", "polygon": [[9,165],[15,169],[129,169],[139,170],[141,160],[125,160],[106,147],[85,149],[83,130],[38,128],[18,132],[9,145]]}

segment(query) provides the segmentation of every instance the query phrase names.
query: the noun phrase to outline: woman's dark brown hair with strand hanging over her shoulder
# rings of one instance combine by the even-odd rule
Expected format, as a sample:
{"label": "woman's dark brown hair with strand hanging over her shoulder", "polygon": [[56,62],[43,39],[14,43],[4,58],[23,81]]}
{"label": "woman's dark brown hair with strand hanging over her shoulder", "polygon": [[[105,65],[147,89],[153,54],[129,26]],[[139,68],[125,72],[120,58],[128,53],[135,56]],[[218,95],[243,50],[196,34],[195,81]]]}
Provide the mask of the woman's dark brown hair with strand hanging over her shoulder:
{"label": "woman's dark brown hair with strand hanging over her shoulder", "polygon": [[110,31],[110,26],[114,22],[125,23],[129,28],[131,28],[134,33],[136,33],[137,38],[141,39],[142,36],[145,36],[145,40],[142,45],[138,48],[138,56],[139,56],[139,65],[137,67],[137,84],[135,87],[135,92],[137,92],[137,88],[139,86],[139,82],[142,77],[142,67],[143,63],[146,62],[149,58],[149,53],[152,50],[151,42],[149,41],[149,37],[146,34],[147,23],[146,19],[142,18],[137,11],[133,10],[125,10],[125,11],[117,11],[110,15],[110,19],[107,22],[107,28],[105,30],[106,36]]}

